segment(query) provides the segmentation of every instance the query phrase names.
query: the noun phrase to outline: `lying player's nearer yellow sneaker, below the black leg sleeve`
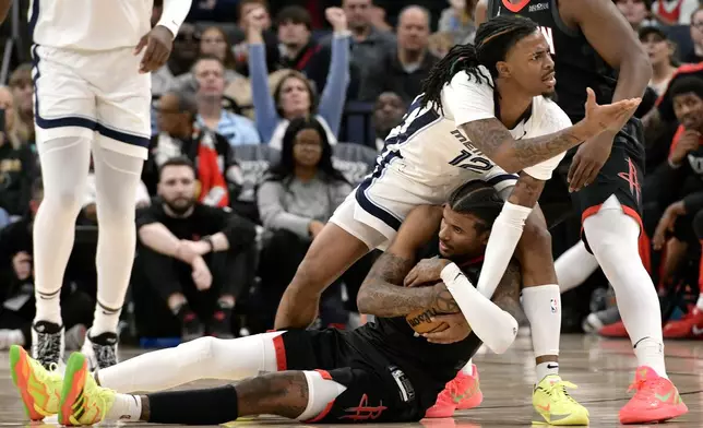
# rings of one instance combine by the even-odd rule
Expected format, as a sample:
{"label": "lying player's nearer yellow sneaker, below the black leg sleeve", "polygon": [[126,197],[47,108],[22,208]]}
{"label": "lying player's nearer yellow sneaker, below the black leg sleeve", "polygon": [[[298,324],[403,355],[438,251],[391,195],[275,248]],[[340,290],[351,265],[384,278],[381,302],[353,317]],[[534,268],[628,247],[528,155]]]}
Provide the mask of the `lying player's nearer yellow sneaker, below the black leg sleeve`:
{"label": "lying player's nearer yellow sneaker, below the black leg sleeve", "polygon": [[59,403],[59,424],[93,425],[105,419],[117,393],[99,387],[88,372],[85,355],[73,353],[67,362]]}

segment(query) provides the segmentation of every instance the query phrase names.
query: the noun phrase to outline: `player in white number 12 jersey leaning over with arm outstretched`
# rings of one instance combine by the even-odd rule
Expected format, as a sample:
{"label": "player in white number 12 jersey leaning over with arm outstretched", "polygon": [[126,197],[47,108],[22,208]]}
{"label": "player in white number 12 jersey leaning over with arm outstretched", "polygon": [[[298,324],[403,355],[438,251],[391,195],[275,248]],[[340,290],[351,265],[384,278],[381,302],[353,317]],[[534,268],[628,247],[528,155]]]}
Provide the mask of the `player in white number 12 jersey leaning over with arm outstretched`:
{"label": "player in white number 12 jersey leaning over with arm outstretched", "polygon": [[[544,183],[565,150],[611,126],[619,126],[636,108],[636,100],[598,106],[589,97],[588,117],[571,127],[567,115],[540,96],[553,92],[553,62],[547,41],[531,21],[511,17],[486,23],[478,29],[476,46],[480,46],[478,54],[472,46],[453,49],[456,54],[466,48],[467,57],[472,54],[472,72],[466,71],[465,58],[452,52],[448,61],[441,61],[432,70],[439,76],[434,81],[442,84],[434,87],[437,92],[416,98],[403,123],[386,138],[385,151],[379,156],[376,170],[337,209],[313,240],[284,294],[276,329],[308,326],[317,314],[320,293],[369,250],[383,249],[413,207],[441,204],[453,189],[476,179],[495,186],[508,199],[517,181],[517,176],[509,173],[523,171],[519,185],[529,180]],[[449,84],[445,84],[446,76],[453,76]],[[436,96],[441,100],[440,106],[434,102]],[[425,99],[432,103],[427,104]],[[476,138],[469,141],[464,130],[473,132],[474,123],[482,124],[488,119],[501,129],[488,134],[476,130],[480,141]],[[493,143],[490,158],[477,148],[480,144]],[[524,193],[517,191],[516,195],[524,198]],[[533,197],[531,192],[526,195]],[[525,205],[527,209],[520,206],[521,202],[525,200],[514,201],[515,211],[521,215],[533,212],[534,201]],[[543,379],[548,374],[548,367],[558,367],[552,362],[558,358],[560,305],[546,222],[539,210],[533,214],[519,218],[515,242],[526,219],[526,239],[521,241],[517,255],[525,286],[534,288],[534,293],[523,294],[529,296],[525,301],[534,301],[524,302],[526,312],[548,314],[539,324],[545,325],[545,334],[550,340],[535,349],[538,373],[544,366],[544,376],[538,374]],[[507,259],[511,254],[505,254]],[[500,266],[500,260],[496,264]],[[473,372],[473,368],[467,369]],[[558,379],[549,384],[559,390],[553,394],[545,392],[555,400],[550,406],[573,402],[561,393],[568,383]],[[587,424],[585,408],[579,406],[572,411],[571,416],[562,417],[563,424]]]}

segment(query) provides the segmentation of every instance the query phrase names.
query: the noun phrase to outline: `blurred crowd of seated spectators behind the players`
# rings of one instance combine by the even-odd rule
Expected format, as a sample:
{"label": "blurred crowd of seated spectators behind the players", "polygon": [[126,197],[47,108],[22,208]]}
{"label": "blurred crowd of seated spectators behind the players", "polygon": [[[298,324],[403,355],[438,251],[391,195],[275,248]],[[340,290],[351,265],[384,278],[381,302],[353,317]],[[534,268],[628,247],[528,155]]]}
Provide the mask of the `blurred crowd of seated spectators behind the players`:
{"label": "blurred crowd of seated spectators behind the players", "polygon": [[[26,1],[17,3],[26,13]],[[676,75],[703,80],[703,2],[615,3],[654,71],[638,111],[646,124],[646,264],[666,316],[698,316],[703,225],[696,221],[703,214],[682,210],[681,201],[703,191],[703,164],[691,156],[701,142],[688,141],[686,123],[676,114],[660,115],[656,100]],[[476,0],[194,1],[167,64],[152,74],[153,138],[135,200],[138,254],[122,340],[142,338],[146,346],[156,337],[231,337],[271,329],[310,242],[370,173],[384,136],[421,92],[432,66],[453,45],[473,40],[485,0],[475,5]],[[156,0],[153,23],[160,8]],[[8,25],[0,34],[8,34]],[[27,34],[22,38],[0,86],[0,349],[22,343],[34,317],[32,223],[43,198]],[[693,108],[703,117],[703,102]],[[678,168],[687,158],[690,165]],[[92,322],[94,180],[61,297],[69,347],[79,346]],[[552,228],[555,257],[577,241],[579,227],[572,217]],[[188,250],[160,252],[156,228],[189,241]],[[215,252],[201,239],[218,233],[228,239],[226,251]],[[357,262],[325,292],[319,325],[362,322],[356,290],[377,255]],[[582,331],[583,320],[593,317],[616,323],[607,289],[596,272],[564,294],[563,331]]]}

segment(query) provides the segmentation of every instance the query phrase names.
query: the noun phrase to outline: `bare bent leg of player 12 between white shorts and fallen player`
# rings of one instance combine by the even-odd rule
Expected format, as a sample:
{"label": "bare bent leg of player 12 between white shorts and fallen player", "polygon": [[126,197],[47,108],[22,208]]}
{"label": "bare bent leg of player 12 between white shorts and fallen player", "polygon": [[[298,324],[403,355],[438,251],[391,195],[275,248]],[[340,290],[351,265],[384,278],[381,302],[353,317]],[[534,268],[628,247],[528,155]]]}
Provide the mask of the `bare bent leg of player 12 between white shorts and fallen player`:
{"label": "bare bent leg of player 12 between white shorts and fallen player", "polygon": [[318,314],[322,292],[369,251],[369,247],[357,237],[332,222],[327,223],[312,241],[283,294],[275,329],[309,326]]}

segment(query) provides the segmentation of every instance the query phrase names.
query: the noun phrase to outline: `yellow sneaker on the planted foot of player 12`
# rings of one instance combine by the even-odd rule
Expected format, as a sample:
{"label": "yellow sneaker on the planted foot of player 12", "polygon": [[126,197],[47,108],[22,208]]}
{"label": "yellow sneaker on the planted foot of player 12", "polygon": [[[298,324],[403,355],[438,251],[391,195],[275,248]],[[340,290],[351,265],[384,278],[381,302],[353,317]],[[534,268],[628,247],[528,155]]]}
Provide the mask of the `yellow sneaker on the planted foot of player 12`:
{"label": "yellow sneaker on the planted foot of player 12", "polygon": [[576,388],[564,382],[558,374],[545,377],[532,394],[532,405],[537,415],[533,424],[588,425],[588,411],[569,395],[567,388]]}

